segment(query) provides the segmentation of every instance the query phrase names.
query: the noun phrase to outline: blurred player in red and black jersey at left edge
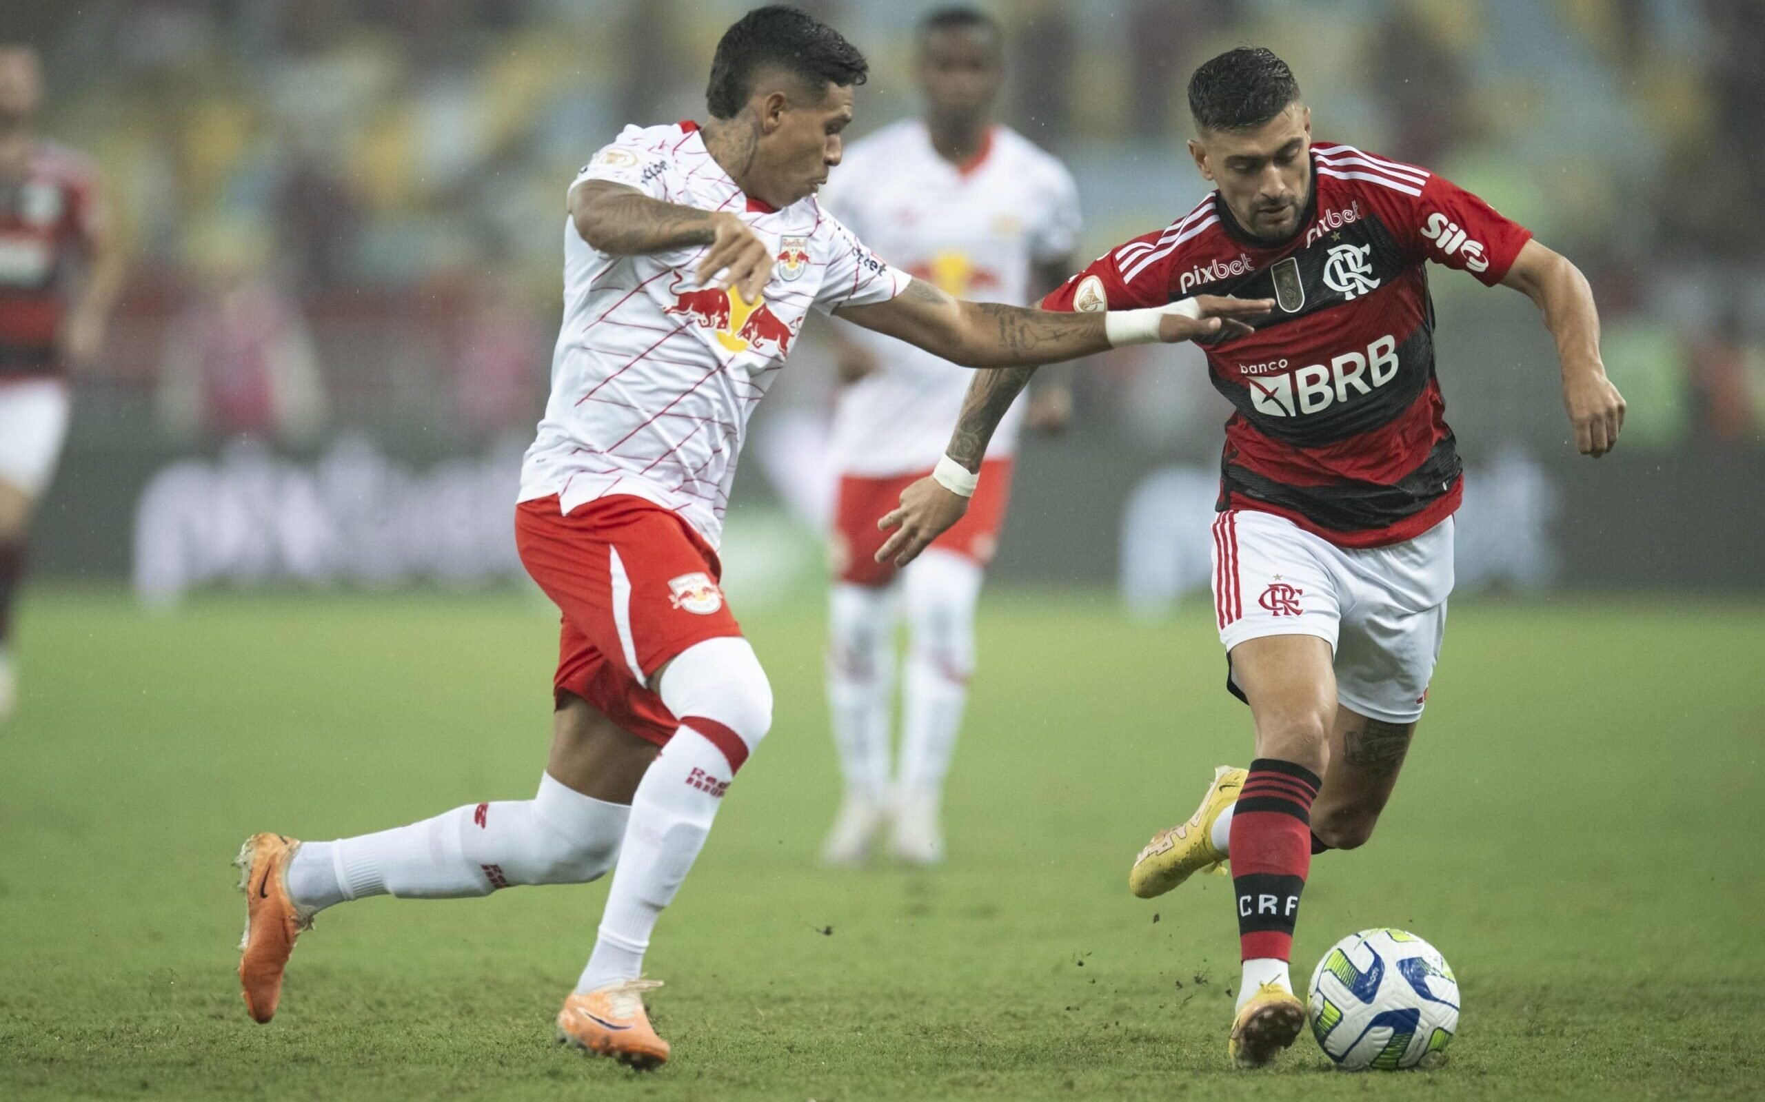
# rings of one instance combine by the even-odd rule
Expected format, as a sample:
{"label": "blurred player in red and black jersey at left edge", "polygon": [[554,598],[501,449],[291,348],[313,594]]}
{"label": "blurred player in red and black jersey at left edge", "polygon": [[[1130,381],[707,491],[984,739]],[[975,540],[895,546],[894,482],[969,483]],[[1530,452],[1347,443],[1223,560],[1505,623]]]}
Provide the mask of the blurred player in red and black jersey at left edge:
{"label": "blurred player in red and black jersey at left edge", "polygon": [[124,261],[97,173],[34,132],[42,69],[0,44],[0,723],[16,698],[11,614],[30,513],[67,436],[65,374],[97,358]]}

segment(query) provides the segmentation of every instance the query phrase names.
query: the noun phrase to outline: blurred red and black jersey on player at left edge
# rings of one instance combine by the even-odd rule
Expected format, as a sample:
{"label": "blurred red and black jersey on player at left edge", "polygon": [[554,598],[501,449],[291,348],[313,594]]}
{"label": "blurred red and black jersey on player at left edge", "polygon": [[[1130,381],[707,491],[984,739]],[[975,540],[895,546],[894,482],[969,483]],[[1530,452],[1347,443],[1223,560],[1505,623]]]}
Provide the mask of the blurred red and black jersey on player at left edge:
{"label": "blurred red and black jersey on player at left edge", "polygon": [[60,369],[71,259],[101,219],[97,173],[78,153],[37,143],[23,175],[0,173],[0,377]]}

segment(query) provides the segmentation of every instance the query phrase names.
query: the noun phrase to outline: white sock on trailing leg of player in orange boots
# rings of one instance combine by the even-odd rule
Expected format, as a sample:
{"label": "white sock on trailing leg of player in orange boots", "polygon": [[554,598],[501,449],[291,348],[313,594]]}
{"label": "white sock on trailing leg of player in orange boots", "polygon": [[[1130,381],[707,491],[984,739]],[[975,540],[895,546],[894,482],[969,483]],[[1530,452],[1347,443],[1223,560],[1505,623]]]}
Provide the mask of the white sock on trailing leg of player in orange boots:
{"label": "white sock on trailing leg of player in orange boots", "polygon": [[288,892],[323,910],[367,896],[452,899],[519,883],[584,883],[612,867],[628,815],[542,774],[531,800],[468,804],[408,827],[304,843],[288,866]]}

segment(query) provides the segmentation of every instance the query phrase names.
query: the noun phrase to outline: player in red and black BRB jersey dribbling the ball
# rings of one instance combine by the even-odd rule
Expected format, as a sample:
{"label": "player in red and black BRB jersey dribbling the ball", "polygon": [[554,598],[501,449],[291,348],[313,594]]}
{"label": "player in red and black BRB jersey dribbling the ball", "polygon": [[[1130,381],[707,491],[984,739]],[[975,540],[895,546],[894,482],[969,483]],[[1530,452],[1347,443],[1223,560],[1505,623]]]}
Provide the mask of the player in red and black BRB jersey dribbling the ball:
{"label": "player in red and black BRB jersey dribbling the ball", "polygon": [[[1191,294],[1278,307],[1255,333],[1207,349],[1236,407],[1213,524],[1214,612],[1227,684],[1255,721],[1255,760],[1221,767],[1200,809],[1154,836],[1128,880],[1158,896],[1230,859],[1244,977],[1228,1051],[1257,1067],[1304,1023],[1288,954],[1311,855],[1371,834],[1446,626],[1461,465],[1435,377],[1426,261],[1539,305],[1583,455],[1613,448],[1624,398],[1601,365],[1599,317],[1574,264],[1426,169],[1315,143],[1294,74],[1267,49],[1197,69],[1190,111],[1190,153],[1216,190],[1098,257],[1043,307],[1121,310]],[[980,471],[1033,372],[976,376],[950,460]],[[902,494],[879,557],[911,561],[962,517],[951,481],[967,488],[928,478]]]}

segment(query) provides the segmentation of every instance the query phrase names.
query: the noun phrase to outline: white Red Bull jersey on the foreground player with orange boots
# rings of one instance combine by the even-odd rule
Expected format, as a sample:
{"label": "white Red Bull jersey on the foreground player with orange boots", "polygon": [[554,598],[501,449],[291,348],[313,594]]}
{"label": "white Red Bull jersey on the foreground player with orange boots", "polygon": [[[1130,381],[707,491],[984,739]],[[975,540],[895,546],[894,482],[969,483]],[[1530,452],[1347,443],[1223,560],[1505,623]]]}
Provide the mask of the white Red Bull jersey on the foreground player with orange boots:
{"label": "white Red Bull jersey on the foreground player with orange boots", "polygon": [[704,247],[607,256],[563,227],[563,328],[551,398],[521,464],[521,501],[632,494],[687,518],[715,547],[748,414],[784,367],[810,307],[888,302],[909,277],[865,249],[815,196],[750,199],[697,125],[625,127],[577,175],[667,203],[727,210],[777,250],[759,302],[699,287]]}

